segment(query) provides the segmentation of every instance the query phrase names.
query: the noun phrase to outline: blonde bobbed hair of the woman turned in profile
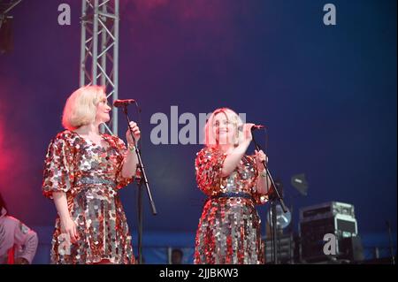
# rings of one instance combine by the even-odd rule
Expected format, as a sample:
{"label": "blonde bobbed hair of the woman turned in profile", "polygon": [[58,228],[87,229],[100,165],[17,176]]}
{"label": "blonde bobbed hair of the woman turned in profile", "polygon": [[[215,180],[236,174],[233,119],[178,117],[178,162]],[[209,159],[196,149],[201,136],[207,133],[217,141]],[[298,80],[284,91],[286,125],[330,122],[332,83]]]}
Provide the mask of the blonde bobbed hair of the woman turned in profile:
{"label": "blonde bobbed hair of the woman turned in profile", "polygon": [[103,86],[88,85],[77,89],[66,100],[62,125],[69,130],[86,126],[96,120],[96,106],[105,94]]}

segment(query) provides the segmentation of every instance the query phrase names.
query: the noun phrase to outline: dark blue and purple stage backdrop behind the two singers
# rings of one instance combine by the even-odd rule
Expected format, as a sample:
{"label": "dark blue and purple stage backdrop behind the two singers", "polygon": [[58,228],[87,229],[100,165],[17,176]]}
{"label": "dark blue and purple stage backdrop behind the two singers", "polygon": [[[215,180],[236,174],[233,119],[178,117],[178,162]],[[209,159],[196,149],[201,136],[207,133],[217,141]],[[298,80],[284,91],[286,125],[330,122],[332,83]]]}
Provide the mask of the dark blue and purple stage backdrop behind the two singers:
{"label": "dark blue and purple stage backdrop behind the two singers", "polygon": [[[355,205],[360,234],[385,234],[387,220],[396,230],[396,1],[333,0],[335,26],[325,26],[318,0],[120,2],[119,98],[142,108],[142,156],[158,210],[151,215],[145,195],[144,235],[182,233],[189,238],[180,247],[192,247],[205,200],[194,168],[202,145],[153,144],[158,123],[150,119],[165,114],[170,143],[172,127],[185,126],[172,121],[175,110],[199,118],[224,106],[267,126],[269,167],[295,229],[300,208],[339,201]],[[62,3],[71,7],[69,26],[57,22]],[[42,196],[43,159],[79,87],[80,4],[22,1],[12,12],[13,50],[0,55],[0,189],[45,245],[56,210]],[[256,137],[264,145],[264,132]],[[307,196],[290,184],[298,173]],[[134,242],[136,196],[134,184],[121,191]],[[263,224],[267,209],[258,207]]]}

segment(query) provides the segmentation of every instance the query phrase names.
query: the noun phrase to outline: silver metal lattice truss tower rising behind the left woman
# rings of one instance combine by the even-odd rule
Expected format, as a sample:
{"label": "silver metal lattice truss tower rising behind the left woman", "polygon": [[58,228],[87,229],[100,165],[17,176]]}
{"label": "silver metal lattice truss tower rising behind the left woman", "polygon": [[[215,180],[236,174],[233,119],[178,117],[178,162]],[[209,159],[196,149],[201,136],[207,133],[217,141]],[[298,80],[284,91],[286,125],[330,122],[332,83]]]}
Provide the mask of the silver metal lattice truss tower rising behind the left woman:
{"label": "silver metal lattice truss tower rising behind the left woman", "polygon": [[[85,85],[105,86],[112,107],[118,99],[119,0],[82,0],[80,87]],[[118,135],[117,108],[102,131]]]}

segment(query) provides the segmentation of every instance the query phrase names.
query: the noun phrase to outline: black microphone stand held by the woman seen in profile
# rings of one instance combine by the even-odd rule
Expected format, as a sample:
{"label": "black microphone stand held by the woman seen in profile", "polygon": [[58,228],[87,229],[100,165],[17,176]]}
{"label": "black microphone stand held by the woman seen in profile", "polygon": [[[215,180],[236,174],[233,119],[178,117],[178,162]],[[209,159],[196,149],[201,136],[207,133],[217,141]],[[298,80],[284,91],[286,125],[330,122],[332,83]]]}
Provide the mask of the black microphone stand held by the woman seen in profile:
{"label": "black microphone stand held by the woman seen in profile", "polygon": [[126,104],[123,105],[123,112],[125,113],[125,116],[126,116],[128,130],[129,130],[131,137],[134,141],[135,153],[137,154],[137,158],[138,158],[138,167],[140,168],[140,171],[142,172],[142,178],[140,179],[140,182],[137,184],[138,185],[138,207],[137,207],[137,209],[138,209],[138,263],[142,264],[142,183],[147,188],[149,203],[150,203],[150,207],[152,208],[152,214],[154,216],[157,215],[157,209],[155,207],[155,202],[153,202],[152,194],[150,193],[147,173],[145,172],[144,165],[142,164],[141,150],[137,146],[137,141],[135,141],[133,129],[130,126],[130,118],[128,118]]}

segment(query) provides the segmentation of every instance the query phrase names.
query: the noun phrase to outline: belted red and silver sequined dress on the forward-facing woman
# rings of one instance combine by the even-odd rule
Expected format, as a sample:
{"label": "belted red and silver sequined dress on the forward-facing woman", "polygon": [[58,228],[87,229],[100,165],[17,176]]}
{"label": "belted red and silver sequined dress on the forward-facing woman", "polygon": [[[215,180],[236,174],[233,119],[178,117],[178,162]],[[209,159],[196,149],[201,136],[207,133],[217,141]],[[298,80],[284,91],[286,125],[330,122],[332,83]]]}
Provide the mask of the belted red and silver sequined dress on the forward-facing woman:
{"label": "belted red and silver sequined dress on the forward-facing woman", "polygon": [[[195,263],[263,263],[260,217],[255,204],[264,203],[264,196],[256,192],[254,158],[243,156],[238,167],[223,178],[225,159],[218,149],[204,148],[196,154],[197,185],[209,198],[196,232]],[[231,194],[249,196],[225,196]]]}

